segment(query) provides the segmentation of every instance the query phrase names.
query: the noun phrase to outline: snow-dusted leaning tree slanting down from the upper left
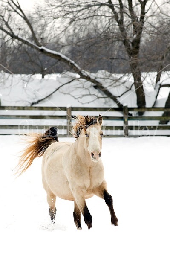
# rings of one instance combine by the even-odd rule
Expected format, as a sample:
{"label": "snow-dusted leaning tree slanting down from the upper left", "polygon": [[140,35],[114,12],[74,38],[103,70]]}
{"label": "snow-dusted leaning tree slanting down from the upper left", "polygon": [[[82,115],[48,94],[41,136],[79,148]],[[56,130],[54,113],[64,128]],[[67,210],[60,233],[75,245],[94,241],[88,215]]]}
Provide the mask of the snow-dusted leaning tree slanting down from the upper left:
{"label": "snow-dusted leaning tree slanting down from the upper left", "polygon": [[[75,61],[72,61],[72,59],[66,57],[66,55],[61,54],[60,52],[53,51],[43,46],[40,38],[38,38],[39,35],[36,34],[32,23],[23,12],[17,0],[4,0],[3,3],[5,3],[4,9],[0,13],[1,31],[3,31],[6,35],[9,35],[12,40],[20,41],[21,43],[26,44],[33,49],[36,49],[38,52],[43,53],[46,56],[64,62],[72,70],[78,73],[82,79],[90,81],[96,89],[107,95],[119,107],[122,107],[122,104],[118,101],[116,96],[114,96],[109,90],[107,90],[107,88],[105,88],[103,84],[101,84],[101,82],[93,78],[89,74],[89,72],[82,70],[81,67],[79,67],[79,65],[75,63]],[[16,19],[16,15],[20,17],[21,22],[24,22],[24,29],[20,29],[20,27],[18,28],[17,24],[14,22],[14,18]],[[13,23],[15,24],[15,26],[13,26]],[[27,27],[27,30],[25,29],[25,26]],[[23,36],[23,32],[26,33],[27,37]],[[32,38],[32,41],[30,41],[28,38]]]}

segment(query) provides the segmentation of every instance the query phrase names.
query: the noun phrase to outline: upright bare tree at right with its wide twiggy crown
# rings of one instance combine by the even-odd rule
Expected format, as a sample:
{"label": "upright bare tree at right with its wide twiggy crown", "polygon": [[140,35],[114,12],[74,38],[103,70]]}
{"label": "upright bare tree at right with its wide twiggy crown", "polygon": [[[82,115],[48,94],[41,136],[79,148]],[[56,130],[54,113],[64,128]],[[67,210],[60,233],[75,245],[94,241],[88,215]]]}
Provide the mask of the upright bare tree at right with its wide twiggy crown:
{"label": "upright bare tree at right with its wide twiggy crown", "polygon": [[[145,94],[141,79],[141,64],[143,61],[143,56],[140,55],[141,40],[144,41],[148,37],[147,30],[150,23],[154,25],[156,22],[155,17],[160,14],[161,5],[158,6],[154,0],[87,0],[86,2],[82,0],[61,0],[60,3],[49,0],[48,5],[52,10],[51,18],[53,22],[62,19],[66,24],[63,31],[66,33],[70,28],[74,31],[73,43],[75,35],[78,35],[75,44],[81,44],[84,41],[84,35],[89,35],[92,30],[98,30],[97,37],[89,37],[89,40],[92,42],[92,47],[96,46],[96,51],[101,50],[101,44],[108,46],[107,49],[109,49],[110,55],[107,56],[107,51],[104,52],[107,63],[110,60],[116,60],[117,56],[114,55],[117,52],[115,44],[124,49],[122,58],[120,56],[119,58],[121,63],[126,64],[126,72],[133,75],[138,107],[145,107]],[[100,37],[98,38],[99,34]],[[109,39],[107,40],[107,38]],[[98,47],[99,44],[100,47]],[[89,52],[88,50],[89,48],[87,52]],[[142,112],[139,114],[142,114]]]}

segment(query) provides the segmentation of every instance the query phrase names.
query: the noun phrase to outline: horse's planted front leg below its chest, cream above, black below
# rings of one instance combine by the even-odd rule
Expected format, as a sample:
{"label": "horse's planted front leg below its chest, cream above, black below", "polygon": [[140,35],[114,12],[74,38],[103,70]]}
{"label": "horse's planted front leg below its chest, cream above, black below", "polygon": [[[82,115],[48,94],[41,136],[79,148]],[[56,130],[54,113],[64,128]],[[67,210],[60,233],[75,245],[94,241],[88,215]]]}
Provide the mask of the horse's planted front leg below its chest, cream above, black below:
{"label": "horse's planted front leg below its chest, cream above, black below", "polygon": [[90,229],[92,227],[92,216],[89,213],[89,209],[87,208],[85,201],[86,190],[82,189],[81,187],[76,187],[72,189],[72,193],[75,198],[75,202],[78,206],[78,209],[82,212],[84,221],[87,227]]}

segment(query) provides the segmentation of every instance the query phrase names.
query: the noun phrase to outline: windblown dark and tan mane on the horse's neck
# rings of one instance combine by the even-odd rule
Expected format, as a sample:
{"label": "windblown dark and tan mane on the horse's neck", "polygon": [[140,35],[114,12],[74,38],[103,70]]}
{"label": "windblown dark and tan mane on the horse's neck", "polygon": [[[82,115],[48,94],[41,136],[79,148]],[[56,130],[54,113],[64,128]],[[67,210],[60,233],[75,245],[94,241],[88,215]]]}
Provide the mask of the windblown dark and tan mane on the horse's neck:
{"label": "windblown dark and tan mane on the horse's neck", "polygon": [[90,126],[90,125],[94,125],[97,124],[97,118],[95,116],[88,116],[89,117],[89,122],[85,124],[84,116],[78,115],[76,116],[75,120],[75,125],[72,127],[72,135],[75,138],[78,138],[81,131],[84,129],[86,131],[86,129]]}

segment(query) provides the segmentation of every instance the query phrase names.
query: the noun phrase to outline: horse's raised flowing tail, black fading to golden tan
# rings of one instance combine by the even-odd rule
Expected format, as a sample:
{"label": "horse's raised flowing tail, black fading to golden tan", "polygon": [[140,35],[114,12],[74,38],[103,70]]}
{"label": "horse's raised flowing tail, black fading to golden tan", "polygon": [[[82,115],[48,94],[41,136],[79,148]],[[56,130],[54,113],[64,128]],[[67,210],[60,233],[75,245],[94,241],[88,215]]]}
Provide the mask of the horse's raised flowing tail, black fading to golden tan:
{"label": "horse's raised flowing tail, black fading to golden tan", "polygon": [[18,174],[18,176],[23,174],[23,172],[29,168],[36,157],[43,156],[49,145],[58,141],[57,128],[51,127],[44,134],[35,134],[31,137],[28,137],[28,141],[30,145],[23,150],[16,168],[16,174]]}

